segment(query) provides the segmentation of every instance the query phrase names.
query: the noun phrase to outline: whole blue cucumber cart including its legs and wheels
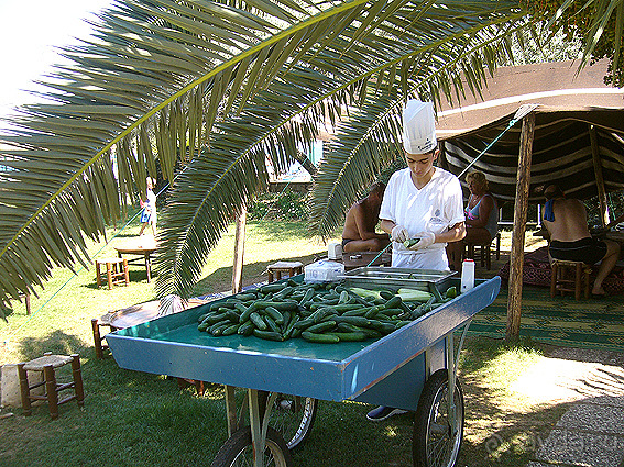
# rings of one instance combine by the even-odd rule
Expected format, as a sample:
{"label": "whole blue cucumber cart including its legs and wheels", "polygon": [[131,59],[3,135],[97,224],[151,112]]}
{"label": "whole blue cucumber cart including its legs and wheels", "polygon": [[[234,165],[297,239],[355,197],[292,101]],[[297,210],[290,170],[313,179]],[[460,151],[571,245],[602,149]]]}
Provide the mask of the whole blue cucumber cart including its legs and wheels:
{"label": "whole blue cucumber cart including its legs and wheels", "polygon": [[[500,287],[500,277],[478,280],[472,290],[376,341],[214,337],[197,330],[197,318],[209,304],[116,331],[107,341],[122,368],[226,386],[230,438],[215,467],[245,465],[245,452],[252,453],[247,465],[292,465],[283,437],[269,426],[277,394],[415,411],[414,465],[448,467],[457,460],[463,435],[456,355],[472,316],[494,301]],[[462,326],[456,349],[453,333]],[[249,426],[240,426],[236,387],[248,389]],[[271,394],[266,405],[259,402],[262,391]]]}

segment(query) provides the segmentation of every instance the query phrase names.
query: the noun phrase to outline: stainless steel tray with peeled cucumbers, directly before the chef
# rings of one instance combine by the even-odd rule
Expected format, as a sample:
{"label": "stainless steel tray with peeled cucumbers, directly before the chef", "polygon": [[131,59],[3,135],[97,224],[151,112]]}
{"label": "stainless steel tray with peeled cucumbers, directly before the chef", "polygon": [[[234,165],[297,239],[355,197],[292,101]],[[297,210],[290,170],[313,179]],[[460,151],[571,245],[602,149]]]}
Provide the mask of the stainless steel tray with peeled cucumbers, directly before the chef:
{"label": "stainless steel tray with peeled cucumbers, directly before the chef", "polygon": [[408,287],[410,289],[427,290],[429,282],[433,282],[438,289],[448,287],[450,278],[456,274],[457,271],[450,270],[370,266],[352,269],[344,273],[344,275],[338,276],[338,279],[347,286],[368,289],[382,286],[390,289]]}

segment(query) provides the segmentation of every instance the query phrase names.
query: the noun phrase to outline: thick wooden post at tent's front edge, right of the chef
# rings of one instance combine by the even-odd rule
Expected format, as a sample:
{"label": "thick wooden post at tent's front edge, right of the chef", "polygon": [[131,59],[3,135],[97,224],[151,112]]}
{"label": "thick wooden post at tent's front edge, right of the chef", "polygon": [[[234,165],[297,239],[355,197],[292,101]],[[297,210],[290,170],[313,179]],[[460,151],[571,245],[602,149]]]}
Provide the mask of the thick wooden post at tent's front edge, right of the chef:
{"label": "thick wooden post at tent's front edge, right of the chef", "polygon": [[507,341],[517,341],[519,337],[524,235],[526,231],[526,218],[528,210],[528,189],[530,186],[530,159],[533,154],[534,134],[535,113],[530,112],[523,119],[519,143],[516,200],[514,203],[514,227],[512,231],[512,252],[510,258]]}

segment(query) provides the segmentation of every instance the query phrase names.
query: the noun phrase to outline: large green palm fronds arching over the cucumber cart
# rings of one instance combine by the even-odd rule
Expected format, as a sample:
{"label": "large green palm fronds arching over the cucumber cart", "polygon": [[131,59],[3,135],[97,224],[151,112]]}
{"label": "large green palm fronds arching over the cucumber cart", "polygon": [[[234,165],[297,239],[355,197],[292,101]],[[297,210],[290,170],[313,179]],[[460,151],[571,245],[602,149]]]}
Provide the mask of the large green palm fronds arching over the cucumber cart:
{"label": "large green palm fronds arching over the cucumber cart", "polygon": [[[172,187],[161,297],[190,293],[227,224],[318,122],[339,123],[316,178],[313,225],[336,225],[398,147],[408,97],[459,100],[532,27],[515,2],[123,0],[64,49],[52,102],[24,105],[0,171],[0,301],[98,238],[161,173]],[[468,79],[462,87],[460,76]],[[113,164],[114,163],[114,164]],[[117,167],[117,168],[116,168]]]}

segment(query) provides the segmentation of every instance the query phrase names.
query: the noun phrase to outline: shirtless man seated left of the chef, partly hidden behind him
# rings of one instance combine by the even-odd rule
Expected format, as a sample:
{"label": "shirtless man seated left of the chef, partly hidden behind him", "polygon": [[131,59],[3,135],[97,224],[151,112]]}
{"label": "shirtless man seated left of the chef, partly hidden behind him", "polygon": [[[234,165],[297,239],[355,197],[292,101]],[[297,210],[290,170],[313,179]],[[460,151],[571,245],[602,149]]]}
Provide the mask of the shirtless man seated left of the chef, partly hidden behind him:
{"label": "shirtless man seated left of the chef, partly hidden behind him", "polygon": [[349,209],[342,231],[343,252],[381,252],[390,244],[386,233],[375,232],[384,191],[385,185],[377,181],[371,186],[366,198]]}

